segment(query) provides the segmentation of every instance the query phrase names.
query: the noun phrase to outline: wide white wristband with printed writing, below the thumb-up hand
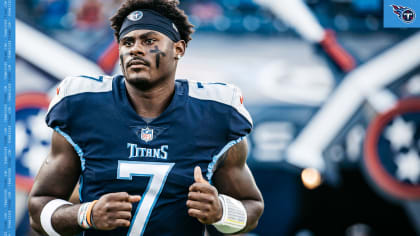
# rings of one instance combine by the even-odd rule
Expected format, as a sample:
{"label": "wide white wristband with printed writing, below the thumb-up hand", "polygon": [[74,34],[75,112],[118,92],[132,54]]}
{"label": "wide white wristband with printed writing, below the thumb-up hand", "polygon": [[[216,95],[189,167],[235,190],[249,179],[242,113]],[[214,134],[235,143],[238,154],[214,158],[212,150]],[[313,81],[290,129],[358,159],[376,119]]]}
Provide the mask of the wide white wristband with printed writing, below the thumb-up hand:
{"label": "wide white wristband with printed writing, below the thumb-up hand", "polygon": [[245,228],[247,214],[242,202],[224,194],[219,195],[222,203],[222,218],[213,224],[213,226],[221,233],[236,233]]}

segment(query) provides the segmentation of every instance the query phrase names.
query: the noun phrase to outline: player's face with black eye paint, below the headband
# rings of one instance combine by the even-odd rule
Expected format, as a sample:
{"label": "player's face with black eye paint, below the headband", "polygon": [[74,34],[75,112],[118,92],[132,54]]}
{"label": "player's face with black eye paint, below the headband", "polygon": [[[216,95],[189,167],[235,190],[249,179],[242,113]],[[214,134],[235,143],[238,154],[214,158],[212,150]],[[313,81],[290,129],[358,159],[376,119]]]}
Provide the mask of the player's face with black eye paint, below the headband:
{"label": "player's face with black eye paint, below the headband", "polygon": [[119,42],[122,72],[128,83],[139,89],[173,79],[176,55],[184,54],[181,40],[174,43],[166,35],[153,30],[133,30]]}

